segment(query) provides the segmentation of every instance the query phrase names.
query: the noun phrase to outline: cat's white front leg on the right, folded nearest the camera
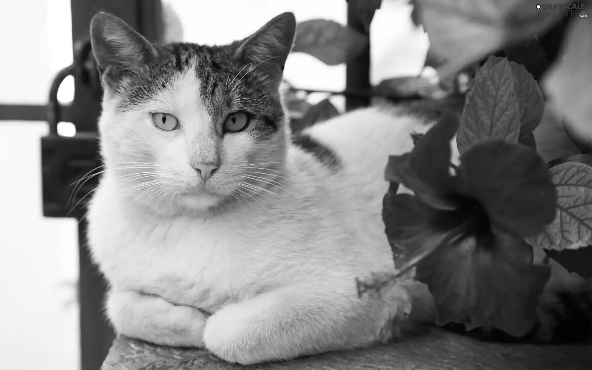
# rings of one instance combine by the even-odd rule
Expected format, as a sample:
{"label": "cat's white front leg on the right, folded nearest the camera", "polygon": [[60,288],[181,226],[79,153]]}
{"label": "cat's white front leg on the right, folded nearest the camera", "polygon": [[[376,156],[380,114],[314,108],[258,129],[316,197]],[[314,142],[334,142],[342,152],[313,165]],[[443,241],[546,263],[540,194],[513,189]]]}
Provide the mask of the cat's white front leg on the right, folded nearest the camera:
{"label": "cat's white front leg on the right, folded nearest the camera", "polygon": [[349,285],[286,287],[227,305],[208,318],[205,348],[249,365],[390,339],[411,311],[407,290],[358,298],[353,279]]}

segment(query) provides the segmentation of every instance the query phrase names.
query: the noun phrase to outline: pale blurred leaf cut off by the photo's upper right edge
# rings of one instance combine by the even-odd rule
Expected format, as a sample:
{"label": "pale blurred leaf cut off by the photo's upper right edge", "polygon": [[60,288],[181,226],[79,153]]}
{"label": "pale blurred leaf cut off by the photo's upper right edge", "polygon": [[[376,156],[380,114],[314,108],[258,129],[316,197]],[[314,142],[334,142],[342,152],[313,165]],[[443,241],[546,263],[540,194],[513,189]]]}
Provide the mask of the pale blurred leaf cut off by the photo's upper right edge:
{"label": "pale blurred leaf cut off by the photo's upper right edge", "polygon": [[584,139],[592,139],[592,34],[589,18],[575,19],[556,60],[543,77],[543,89],[561,108],[565,120]]}

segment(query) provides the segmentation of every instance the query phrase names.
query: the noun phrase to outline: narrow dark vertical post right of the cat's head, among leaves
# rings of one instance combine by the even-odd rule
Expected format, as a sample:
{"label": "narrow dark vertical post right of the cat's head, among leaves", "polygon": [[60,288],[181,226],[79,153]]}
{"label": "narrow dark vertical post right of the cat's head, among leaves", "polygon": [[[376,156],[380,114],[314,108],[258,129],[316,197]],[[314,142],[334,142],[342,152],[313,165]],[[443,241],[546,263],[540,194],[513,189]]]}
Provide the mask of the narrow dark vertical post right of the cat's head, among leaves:
{"label": "narrow dark vertical post right of the cat's head, among leaves", "polygon": [[[348,26],[354,30],[369,37],[369,31],[363,25],[359,18],[359,9],[353,2],[348,2]],[[369,91],[370,86],[370,43],[368,47],[352,59],[346,66],[345,87],[356,91]],[[370,105],[368,96],[346,96],[345,109],[350,111],[356,108],[367,107]]]}

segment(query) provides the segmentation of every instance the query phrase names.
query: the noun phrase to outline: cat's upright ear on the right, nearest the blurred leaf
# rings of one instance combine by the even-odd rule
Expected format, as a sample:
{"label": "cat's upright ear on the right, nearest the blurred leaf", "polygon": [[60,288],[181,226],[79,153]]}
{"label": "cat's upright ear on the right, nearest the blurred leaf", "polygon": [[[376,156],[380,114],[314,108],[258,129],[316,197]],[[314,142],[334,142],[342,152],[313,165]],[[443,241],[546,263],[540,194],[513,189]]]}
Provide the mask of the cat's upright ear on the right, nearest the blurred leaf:
{"label": "cat's upright ear on the right, nearest the blurred leaf", "polygon": [[294,44],[296,18],[291,12],[278,15],[256,33],[247,37],[234,56],[247,63],[255,63],[272,76],[281,76],[288,54]]}

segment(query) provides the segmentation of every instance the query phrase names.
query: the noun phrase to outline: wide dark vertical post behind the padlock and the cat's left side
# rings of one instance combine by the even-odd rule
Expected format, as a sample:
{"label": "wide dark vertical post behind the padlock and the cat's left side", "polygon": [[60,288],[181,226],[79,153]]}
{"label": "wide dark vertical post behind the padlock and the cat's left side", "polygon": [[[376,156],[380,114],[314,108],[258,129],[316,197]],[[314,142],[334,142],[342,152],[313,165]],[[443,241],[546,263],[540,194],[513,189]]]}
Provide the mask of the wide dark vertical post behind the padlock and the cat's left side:
{"label": "wide dark vertical post behind the padlock and the cat's left side", "polygon": [[[79,41],[89,39],[90,21],[98,11],[107,11],[120,17],[150,41],[160,41],[162,38],[160,0],[72,0],[70,7],[72,40],[75,46]],[[76,58],[76,50],[74,52]],[[75,74],[71,119],[76,131],[93,132],[96,131],[101,101],[100,96],[96,94],[96,89],[93,90],[92,82],[85,80],[88,78],[83,78],[81,73]],[[80,256],[78,295],[82,370],[99,370],[115,335],[103,310],[107,283],[92,263],[86,247],[86,221],[82,217],[78,218]]]}

